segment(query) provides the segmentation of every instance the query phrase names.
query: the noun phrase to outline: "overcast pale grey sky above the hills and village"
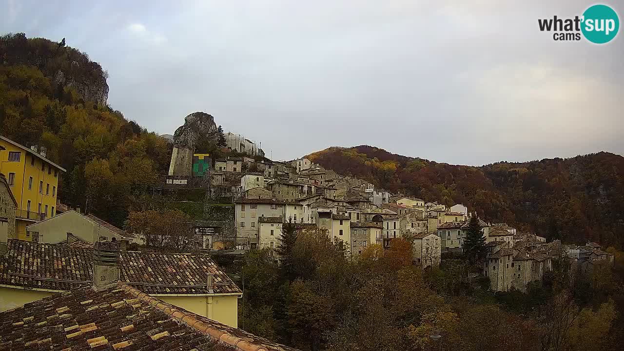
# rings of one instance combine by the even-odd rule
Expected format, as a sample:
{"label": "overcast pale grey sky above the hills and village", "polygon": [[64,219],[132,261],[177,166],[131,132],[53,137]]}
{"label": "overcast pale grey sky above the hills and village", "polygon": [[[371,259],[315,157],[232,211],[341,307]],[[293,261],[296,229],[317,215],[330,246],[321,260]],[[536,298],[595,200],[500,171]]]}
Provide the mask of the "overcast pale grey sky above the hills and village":
{"label": "overcast pale grey sky above the hills and village", "polygon": [[366,144],[480,166],[624,154],[624,29],[598,45],[538,27],[593,3],[0,0],[0,32],[65,37],[158,134],[204,111],[276,160]]}

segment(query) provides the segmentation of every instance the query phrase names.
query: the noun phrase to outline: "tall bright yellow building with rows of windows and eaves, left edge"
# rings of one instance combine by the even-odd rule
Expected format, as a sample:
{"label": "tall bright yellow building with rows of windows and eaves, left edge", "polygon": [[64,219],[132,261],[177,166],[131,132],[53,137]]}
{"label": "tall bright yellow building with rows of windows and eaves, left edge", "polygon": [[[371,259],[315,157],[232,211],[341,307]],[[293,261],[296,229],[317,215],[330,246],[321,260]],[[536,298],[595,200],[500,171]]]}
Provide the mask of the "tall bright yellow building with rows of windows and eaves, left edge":
{"label": "tall bright yellow building with rows of windows and eaves, left edge", "polygon": [[[29,149],[0,136],[0,173],[17,201],[16,233],[11,237],[30,241],[26,226],[56,214],[59,177],[65,169],[46,159],[42,149]],[[37,238],[35,238],[37,240]]]}

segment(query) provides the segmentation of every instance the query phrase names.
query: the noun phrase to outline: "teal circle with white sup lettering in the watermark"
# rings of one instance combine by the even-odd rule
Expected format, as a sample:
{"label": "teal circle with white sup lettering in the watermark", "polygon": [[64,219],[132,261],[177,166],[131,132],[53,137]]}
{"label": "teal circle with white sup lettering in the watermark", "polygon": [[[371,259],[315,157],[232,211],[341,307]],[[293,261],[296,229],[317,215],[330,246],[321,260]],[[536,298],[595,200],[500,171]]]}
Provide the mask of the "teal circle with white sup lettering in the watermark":
{"label": "teal circle with white sup lettering in the watermark", "polygon": [[593,5],[583,12],[581,31],[588,41],[595,44],[610,42],[618,34],[620,18],[607,5]]}

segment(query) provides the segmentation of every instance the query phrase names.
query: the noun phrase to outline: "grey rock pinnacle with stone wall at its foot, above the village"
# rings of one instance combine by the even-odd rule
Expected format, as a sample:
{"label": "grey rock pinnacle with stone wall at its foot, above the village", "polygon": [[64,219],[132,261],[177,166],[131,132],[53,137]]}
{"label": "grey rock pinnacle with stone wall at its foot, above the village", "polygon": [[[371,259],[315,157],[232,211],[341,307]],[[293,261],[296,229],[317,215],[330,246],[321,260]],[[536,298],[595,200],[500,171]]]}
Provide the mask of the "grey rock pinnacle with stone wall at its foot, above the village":
{"label": "grey rock pinnacle with stone wall at its foot, above the village", "polygon": [[218,127],[215,118],[205,112],[194,112],[184,118],[184,125],[173,134],[173,153],[169,175],[189,177],[193,164],[195,144],[202,137],[217,139]]}

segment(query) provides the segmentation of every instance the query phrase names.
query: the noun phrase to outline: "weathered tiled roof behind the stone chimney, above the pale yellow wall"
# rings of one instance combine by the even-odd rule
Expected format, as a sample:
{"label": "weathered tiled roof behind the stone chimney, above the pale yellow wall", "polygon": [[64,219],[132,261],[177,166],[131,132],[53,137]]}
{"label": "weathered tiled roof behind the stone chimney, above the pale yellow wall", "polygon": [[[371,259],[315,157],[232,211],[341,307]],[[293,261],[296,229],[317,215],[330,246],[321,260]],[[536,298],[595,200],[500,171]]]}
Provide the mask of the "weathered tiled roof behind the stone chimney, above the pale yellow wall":
{"label": "weathered tiled roof behind the stone chimney, above the pale yellow wall", "polygon": [[[240,294],[236,284],[206,254],[122,251],[120,280],[150,294]],[[0,284],[70,290],[92,282],[93,250],[9,239],[0,257]]]}

